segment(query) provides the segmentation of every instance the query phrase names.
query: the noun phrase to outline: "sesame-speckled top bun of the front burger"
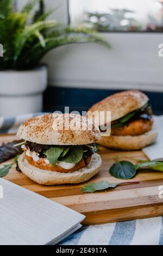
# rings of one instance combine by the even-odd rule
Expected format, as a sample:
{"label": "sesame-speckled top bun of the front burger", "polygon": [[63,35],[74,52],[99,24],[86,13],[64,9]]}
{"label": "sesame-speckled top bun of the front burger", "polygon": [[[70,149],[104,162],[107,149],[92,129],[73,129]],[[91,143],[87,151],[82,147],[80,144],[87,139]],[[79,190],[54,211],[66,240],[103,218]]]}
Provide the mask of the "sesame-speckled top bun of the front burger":
{"label": "sesame-speckled top bun of the front burger", "polygon": [[91,120],[68,113],[33,117],[20,126],[17,136],[47,145],[84,145],[101,138],[98,127]]}

